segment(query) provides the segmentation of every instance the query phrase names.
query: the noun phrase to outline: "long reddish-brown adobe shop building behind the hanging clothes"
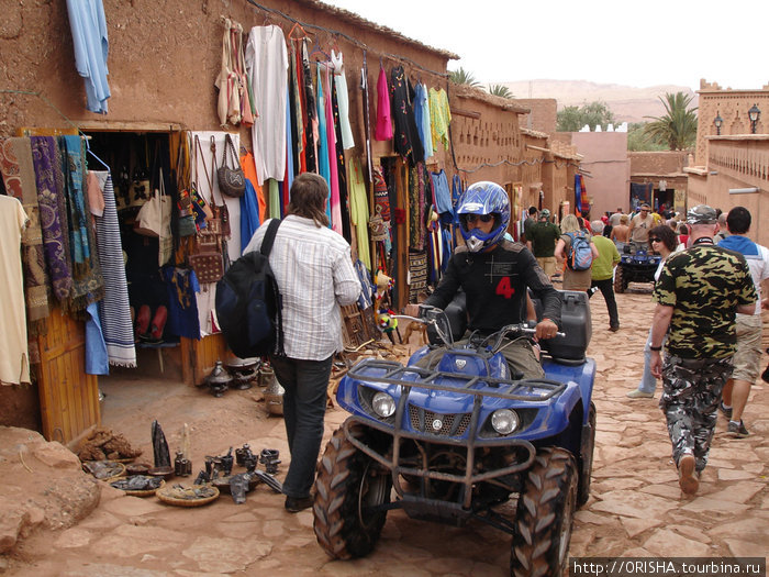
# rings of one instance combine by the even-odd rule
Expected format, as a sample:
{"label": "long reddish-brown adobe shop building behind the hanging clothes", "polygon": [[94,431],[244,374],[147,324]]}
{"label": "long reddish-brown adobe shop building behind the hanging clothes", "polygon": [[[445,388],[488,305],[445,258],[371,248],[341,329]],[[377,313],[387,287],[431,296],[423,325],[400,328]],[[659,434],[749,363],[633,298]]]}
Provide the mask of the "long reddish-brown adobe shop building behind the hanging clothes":
{"label": "long reddish-brown adobe shop building behind the hanging clothes", "polygon": [[[528,113],[526,106],[452,85],[447,64],[458,56],[450,52],[315,0],[234,0],[224,4],[104,0],[103,4],[111,91],[105,114],[86,109],[66,3],[33,7],[15,2],[4,7],[0,30],[0,73],[4,79],[0,87],[0,138],[80,135],[92,147],[100,146],[97,153],[109,159],[125,152],[123,146],[131,148],[147,141],[160,143],[174,154],[172,143],[186,134],[183,131],[191,131],[220,138],[229,133],[245,151],[252,151],[252,131],[243,125],[223,126],[218,116],[214,80],[221,69],[226,18],[243,26],[244,36],[253,26],[279,26],[286,38],[307,37],[313,63],[326,60],[332,49],[344,54],[355,140],[355,145],[344,152],[347,165],[356,160],[364,167],[368,162],[388,164],[393,171],[404,174],[405,162],[395,153],[392,141],[370,138],[370,151],[367,147],[367,107],[361,89],[366,63],[368,113],[375,122],[380,67],[389,77],[393,67],[402,66],[412,84],[422,80],[428,88],[448,93],[449,140],[447,145],[435,145],[435,154],[425,163],[430,171],[444,170],[449,184],[455,176],[465,186],[498,181],[511,196],[516,221],[525,208],[538,204],[540,199],[548,208],[568,199],[568,182],[573,182],[577,167],[573,147],[550,149],[547,135],[522,130],[519,118]],[[146,155],[140,149],[129,152],[132,160]],[[88,159],[91,162],[90,156]],[[119,170],[116,166],[113,164],[113,174]],[[366,180],[371,214],[374,186]],[[406,211],[404,181],[398,180],[394,186],[393,208]],[[212,190],[214,187],[212,184]],[[234,204],[226,199],[226,204],[231,220],[237,222],[237,199]],[[410,298],[408,215],[406,222],[392,224],[399,241],[393,267],[400,273],[394,304],[400,308]],[[517,232],[515,224],[511,231]],[[239,238],[237,245],[239,248]],[[98,378],[85,374],[83,323],[60,314],[58,309],[52,311],[51,320],[47,333],[36,337],[41,362],[32,367],[32,385],[0,387],[0,424],[37,429],[49,440],[68,443],[100,422]],[[181,378],[193,385],[200,384],[216,359],[225,355],[221,334],[200,340],[182,337],[174,347],[137,351],[138,367],[122,370],[157,378],[165,359],[164,378]]]}

